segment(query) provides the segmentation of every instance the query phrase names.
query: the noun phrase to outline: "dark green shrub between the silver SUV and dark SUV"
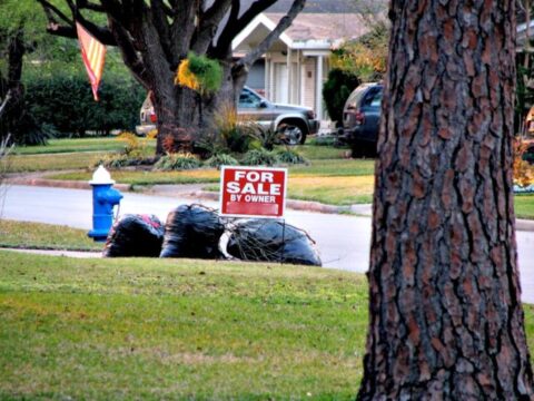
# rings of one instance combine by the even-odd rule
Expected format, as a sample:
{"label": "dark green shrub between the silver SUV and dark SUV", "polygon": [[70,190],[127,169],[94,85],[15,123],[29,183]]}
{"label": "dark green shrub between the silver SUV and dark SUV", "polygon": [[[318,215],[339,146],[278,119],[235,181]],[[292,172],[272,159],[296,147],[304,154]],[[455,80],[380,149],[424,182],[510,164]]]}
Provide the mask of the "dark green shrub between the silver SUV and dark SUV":
{"label": "dark green shrub between the silver SUV and dark SUV", "polygon": [[357,76],[334,68],[328,72],[328,79],[323,87],[323,99],[325,100],[328,116],[337,126],[343,125],[343,107],[350,92],[360,84]]}

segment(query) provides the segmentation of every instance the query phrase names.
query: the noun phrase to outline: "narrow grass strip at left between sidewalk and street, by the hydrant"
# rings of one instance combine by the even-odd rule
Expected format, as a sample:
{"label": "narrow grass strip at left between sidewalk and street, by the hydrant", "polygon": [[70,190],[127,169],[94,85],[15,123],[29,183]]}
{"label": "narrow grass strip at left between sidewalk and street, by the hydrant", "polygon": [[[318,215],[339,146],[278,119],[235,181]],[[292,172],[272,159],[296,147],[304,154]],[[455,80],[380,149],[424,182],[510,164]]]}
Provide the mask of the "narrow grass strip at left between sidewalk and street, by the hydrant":
{"label": "narrow grass strip at left between sidewalk and street, by the hydrant", "polygon": [[0,247],[101,251],[83,229],[41,223],[0,219]]}

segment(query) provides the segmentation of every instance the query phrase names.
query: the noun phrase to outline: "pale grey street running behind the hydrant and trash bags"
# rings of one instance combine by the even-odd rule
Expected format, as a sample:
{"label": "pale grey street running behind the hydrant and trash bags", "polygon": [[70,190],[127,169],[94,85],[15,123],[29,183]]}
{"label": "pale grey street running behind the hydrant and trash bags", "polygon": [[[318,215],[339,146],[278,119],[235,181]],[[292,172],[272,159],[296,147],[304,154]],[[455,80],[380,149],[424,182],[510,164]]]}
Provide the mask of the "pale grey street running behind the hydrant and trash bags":
{"label": "pale grey street running behind the hydrant and trash bags", "polygon": [[[165,222],[181,204],[201,203],[218,208],[215,202],[191,198],[125,193],[120,214],[155,214]],[[9,186],[3,218],[67,225],[90,229],[92,198],[85,189]],[[287,211],[286,222],[305,229],[317,243],[323,264],[328,268],[365,272],[369,260],[370,218],[338,214]],[[534,303],[534,232],[517,232],[523,301]]]}

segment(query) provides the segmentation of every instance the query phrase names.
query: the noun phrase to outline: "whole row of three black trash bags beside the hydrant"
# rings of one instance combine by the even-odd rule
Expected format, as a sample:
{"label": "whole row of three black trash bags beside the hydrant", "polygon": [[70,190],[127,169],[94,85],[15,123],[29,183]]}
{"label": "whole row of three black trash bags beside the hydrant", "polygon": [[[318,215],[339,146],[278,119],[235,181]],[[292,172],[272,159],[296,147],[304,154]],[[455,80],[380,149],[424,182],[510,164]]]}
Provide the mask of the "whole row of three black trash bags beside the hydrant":
{"label": "whole row of three black trash bags beside the hydrant", "polygon": [[123,215],[111,227],[103,256],[235,257],[322,265],[315,242],[297,227],[273,219],[224,219],[198,204],[171,211],[165,225],[154,215]]}

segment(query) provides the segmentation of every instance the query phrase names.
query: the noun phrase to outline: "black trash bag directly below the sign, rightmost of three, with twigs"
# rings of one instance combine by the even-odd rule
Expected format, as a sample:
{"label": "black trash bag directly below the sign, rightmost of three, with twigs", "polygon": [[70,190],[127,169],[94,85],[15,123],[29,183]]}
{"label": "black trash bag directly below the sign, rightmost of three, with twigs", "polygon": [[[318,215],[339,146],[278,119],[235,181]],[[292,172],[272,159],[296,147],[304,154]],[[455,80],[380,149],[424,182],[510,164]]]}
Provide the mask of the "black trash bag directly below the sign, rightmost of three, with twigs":
{"label": "black trash bag directly below the sign, rightmost of three, with twigs", "polygon": [[227,252],[244,261],[281,262],[320,266],[315,241],[289,224],[249,219],[230,228]]}

